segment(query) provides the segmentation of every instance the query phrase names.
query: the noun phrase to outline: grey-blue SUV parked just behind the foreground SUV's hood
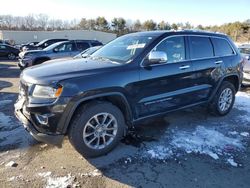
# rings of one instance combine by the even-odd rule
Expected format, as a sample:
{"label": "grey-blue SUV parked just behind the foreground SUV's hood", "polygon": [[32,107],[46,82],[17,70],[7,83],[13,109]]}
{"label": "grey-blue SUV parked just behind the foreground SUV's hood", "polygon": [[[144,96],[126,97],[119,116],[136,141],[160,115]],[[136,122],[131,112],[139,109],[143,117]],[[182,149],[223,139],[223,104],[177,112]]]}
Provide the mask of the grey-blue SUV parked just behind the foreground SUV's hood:
{"label": "grey-blue SUV parked just behind the foreground SUV's hood", "polygon": [[58,58],[74,57],[96,44],[96,40],[71,40],[54,43],[43,50],[24,51],[19,54],[19,67],[24,69],[45,61]]}

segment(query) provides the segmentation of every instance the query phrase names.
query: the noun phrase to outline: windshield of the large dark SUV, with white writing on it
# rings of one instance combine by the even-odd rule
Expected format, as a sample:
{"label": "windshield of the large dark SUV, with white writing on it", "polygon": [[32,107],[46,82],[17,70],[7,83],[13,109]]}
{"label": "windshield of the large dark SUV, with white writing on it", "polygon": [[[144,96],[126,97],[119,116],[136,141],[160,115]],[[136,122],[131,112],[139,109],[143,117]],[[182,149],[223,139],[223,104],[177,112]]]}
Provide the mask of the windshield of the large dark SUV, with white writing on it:
{"label": "windshield of the large dark SUV, with white writing on it", "polygon": [[106,44],[91,57],[126,63],[136,57],[153,40],[151,36],[125,35]]}

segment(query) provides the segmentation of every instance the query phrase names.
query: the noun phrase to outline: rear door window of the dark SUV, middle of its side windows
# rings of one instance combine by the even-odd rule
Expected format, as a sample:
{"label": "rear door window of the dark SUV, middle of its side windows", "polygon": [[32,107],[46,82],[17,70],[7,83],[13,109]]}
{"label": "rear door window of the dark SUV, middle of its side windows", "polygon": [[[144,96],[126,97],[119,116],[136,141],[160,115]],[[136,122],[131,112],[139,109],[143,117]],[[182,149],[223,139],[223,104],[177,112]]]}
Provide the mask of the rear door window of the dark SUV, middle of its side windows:
{"label": "rear door window of the dark SUV, middle of its side windows", "polygon": [[213,57],[213,46],[208,37],[189,37],[192,59]]}

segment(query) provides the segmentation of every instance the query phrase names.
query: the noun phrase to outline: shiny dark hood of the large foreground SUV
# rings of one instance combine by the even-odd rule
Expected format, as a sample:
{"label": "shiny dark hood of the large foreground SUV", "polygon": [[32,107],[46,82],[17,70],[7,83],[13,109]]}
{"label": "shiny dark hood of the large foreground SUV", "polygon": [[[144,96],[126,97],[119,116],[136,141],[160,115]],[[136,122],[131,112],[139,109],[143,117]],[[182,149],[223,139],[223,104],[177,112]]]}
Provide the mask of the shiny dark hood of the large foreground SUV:
{"label": "shiny dark hood of the large foreground SUV", "polygon": [[21,79],[32,84],[49,85],[65,79],[111,71],[111,68],[121,65],[107,60],[57,59],[25,69]]}

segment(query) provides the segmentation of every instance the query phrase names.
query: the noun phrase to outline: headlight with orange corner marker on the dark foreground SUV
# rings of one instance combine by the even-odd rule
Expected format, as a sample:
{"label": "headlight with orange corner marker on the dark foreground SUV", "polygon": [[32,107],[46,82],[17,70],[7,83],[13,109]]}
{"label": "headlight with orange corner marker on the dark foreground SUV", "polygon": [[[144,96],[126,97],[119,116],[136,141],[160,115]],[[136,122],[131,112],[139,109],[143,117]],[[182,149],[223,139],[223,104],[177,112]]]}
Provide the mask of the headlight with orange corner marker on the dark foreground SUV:
{"label": "headlight with orange corner marker on the dark foreground SUV", "polygon": [[32,96],[37,98],[57,98],[62,93],[62,87],[53,88],[50,86],[36,85]]}

